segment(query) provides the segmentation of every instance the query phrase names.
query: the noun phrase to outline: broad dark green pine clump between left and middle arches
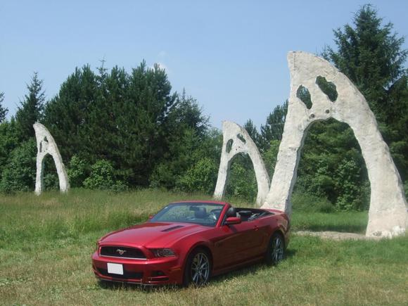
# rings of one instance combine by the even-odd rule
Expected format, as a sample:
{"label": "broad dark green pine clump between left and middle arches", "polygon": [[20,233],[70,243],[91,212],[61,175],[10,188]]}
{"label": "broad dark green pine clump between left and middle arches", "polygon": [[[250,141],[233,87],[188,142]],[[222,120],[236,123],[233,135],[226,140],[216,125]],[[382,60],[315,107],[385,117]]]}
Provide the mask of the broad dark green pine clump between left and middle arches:
{"label": "broad dark green pine clump between left and middle arches", "polygon": [[185,92],[170,91],[158,65],[98,74],[87,65],[63,83],[44,121],[65,161],[76,153],[87,164],[103,158],[129,186],[173,188],[174,178],[199,159],[192,151],[205,137],[208,117]]}

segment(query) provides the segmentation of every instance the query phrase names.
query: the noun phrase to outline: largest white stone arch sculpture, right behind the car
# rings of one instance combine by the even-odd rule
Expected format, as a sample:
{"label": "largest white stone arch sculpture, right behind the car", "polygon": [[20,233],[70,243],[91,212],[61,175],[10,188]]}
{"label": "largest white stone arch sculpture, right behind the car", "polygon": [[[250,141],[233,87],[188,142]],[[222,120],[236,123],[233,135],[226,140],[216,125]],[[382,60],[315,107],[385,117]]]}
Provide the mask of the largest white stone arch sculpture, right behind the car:
{"label": "largest white stone arch sculpture, right behind the car", "polygon": [[[408,213],[400,174],[364,96],[348,77],[322,58],[304,52],[290,52],[288,64],[291,70],[288,114],[271,188],[262,208],[291,212],[291,193],[307,129],[312,122],[333,117],[352,128],[366,162],[371,184],[366,236],[392,237],[404,233],[408,226]],[[335,86],[336,99],[326,95],[319,87],[319,77]],[[306,106],[298,98],[300,86],[309,91],[311,106]]]}

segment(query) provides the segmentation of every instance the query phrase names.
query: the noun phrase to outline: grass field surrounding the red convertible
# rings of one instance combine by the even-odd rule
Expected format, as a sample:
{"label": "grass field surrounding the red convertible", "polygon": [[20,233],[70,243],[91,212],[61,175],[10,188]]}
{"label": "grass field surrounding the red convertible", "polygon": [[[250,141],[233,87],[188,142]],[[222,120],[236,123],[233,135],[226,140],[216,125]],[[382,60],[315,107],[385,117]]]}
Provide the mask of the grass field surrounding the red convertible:
{"label": "grass field surrounding the red convertible", "polygon": [[[174,200],[165,191],[0,198],[2,305],[407,305],[408,236],[326,241],[293,234],[286,260],[218,276],[204,288],[100,286],[91,270],[96,240],[142,222]],[[245,206],[245,203],[234,203]],[[293,212],[293,230],[364,232],[366,212]]]}

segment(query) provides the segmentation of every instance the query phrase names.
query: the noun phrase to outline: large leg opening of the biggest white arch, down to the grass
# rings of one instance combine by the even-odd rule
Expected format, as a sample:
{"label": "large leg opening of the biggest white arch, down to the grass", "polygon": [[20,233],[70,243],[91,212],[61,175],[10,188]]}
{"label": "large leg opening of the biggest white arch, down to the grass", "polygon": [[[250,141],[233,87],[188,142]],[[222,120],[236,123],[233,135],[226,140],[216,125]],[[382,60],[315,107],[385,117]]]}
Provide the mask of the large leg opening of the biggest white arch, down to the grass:
{"label": "large leg opening of the biggest white arch, down to the grass", "polygon": [[[306,133],[306,132],[305,132]],[[297,212],[364,211],[369,208],[370,184],[361,149],[352,129],[334,119],[314,122],[301,151],[291,202]],[[338,156],[340,158],[337,158]],[[310,231],[343,231],[363,234],[368,211],[359,221],[307,225]],[[295,218],[295,217],[294,217]]]}

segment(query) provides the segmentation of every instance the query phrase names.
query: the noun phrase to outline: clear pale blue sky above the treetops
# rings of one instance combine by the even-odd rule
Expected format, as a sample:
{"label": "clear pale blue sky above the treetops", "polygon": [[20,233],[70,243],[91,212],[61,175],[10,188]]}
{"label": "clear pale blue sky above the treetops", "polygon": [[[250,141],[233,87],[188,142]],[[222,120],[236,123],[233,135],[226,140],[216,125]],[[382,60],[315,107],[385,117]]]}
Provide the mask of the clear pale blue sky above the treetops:
{"label": "clear pale blue sky above the treetops", "polygon": [[[319,53],[366,3],[408,34],[408,1],[1,1],[0,91],[13,115],[34,71],[47,98],[75,67],[160,63],[210,122],[257,127],[289,94],[288,51]],[[404,48],[408,49],[407,42]]]}

